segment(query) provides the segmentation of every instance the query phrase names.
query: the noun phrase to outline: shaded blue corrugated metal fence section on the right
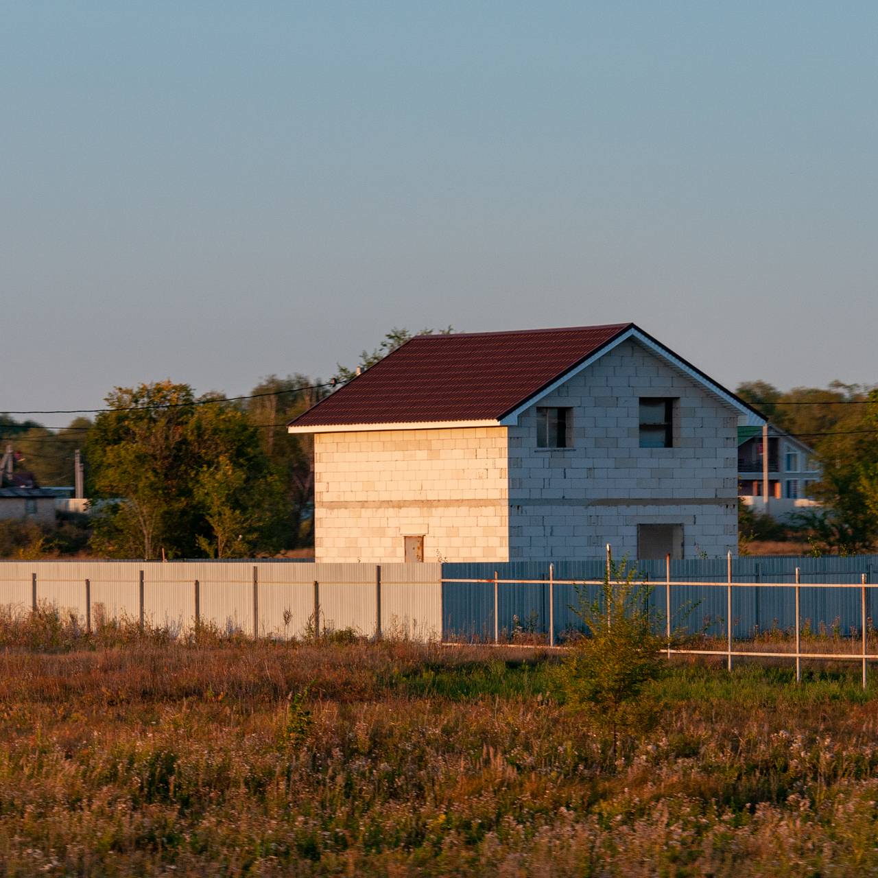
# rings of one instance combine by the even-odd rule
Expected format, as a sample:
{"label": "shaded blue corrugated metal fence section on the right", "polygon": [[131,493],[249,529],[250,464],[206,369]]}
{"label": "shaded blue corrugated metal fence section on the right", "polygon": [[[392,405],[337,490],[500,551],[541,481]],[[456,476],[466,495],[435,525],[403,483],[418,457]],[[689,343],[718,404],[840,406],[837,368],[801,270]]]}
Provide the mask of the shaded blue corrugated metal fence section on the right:
{"label": "shaded blue corrugated metal fence section on the right", "polygon": [[[594,558],[581,561],[558,559],[552,562],[555,579],[602,579],[605,561]],[[638,561],[638,578],[655,585],[651,603],[659,615],[665,615],[665,561]],[[773,588],[772,583],[795,582],[795,569],[800,570],[801,617],[812,630],[823,625],[827,630],[838,626],[847,634],[860,630],[860,596],[852,589],[809,588],[808,583],[878,582],[878,555],[857,555],[849,558],[743,557],[732,559],[733,582],[760,583],[756,588],[734,590],[732,636],[750,637],[759,630],[774,627],[788,630],[795,626],[795,596],[789,588]],[[547,633],[552,616],[555,637],[565,631],[578,630],[579,616],[574,607],[581,597],[592,600],[596,587],[556,585],[550,589],[545,582],[522,584],[500,582],[497,587],[497,613],[494,614],[493,583],[465,581],[475,579],[541,579],[549,578],[548,561],[511,561],[507,564],[444,564],[443,565],[443,639],[490,640],[495,619],[498,630],[507,634],[516,626],[525,631]],[[687,558],[671,562],[671,578],[675,582],[691,582],[692,587],[677,586],[671,591],[671,616],[675,625],[689,630],[705,629],[720,637],[725,631],[726,595],[721,589],[698,587],[698,582],[724,581],[727,576],[725,558]],[[450,579],[464,580],[451,582]],[[765,586],[761,586],[761,583]],[[867,589],[867,613],[871,619],[878,614],[878,588]]]}

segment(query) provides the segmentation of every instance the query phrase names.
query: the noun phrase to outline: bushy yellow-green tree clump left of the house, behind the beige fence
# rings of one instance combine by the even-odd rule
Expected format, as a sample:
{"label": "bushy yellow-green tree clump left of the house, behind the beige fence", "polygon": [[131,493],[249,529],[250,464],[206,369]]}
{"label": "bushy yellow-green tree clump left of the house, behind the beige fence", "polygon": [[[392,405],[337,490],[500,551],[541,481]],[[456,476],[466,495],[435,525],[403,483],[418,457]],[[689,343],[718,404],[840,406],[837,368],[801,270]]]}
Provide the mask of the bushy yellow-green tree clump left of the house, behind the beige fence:
{"label": "bushy yellow-green tree clump left of the house, behind the beige fence", "polygon": [[[93,543],[116,557],[227,557],[254,551],[277,515],[275,473],[248,416],[230,403],[200,405],[170,381],[116,388],[98,414],[89,452]],[[240,540],[238,537],[240,536]]]}

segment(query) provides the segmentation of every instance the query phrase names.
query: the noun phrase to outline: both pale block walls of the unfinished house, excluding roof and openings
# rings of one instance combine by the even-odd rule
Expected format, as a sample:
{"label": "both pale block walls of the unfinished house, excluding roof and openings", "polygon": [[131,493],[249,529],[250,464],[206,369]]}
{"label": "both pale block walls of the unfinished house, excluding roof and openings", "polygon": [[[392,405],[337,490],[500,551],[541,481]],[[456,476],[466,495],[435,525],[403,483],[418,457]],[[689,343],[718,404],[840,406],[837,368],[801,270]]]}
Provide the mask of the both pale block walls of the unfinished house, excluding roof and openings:
{"label": "both pale block walls of the unfinished house, excluding roof and openings", "polygon": [[[638,400],[673,397],[674,447],[642,449]],[[540,406],[573,408],[573,447],[536,448],[536,406],[510,428],[314,437],[316,559],[425,561],[637,554],[638,524],[682,524],[685,556],[736,551],[735,409],[637,342]]]}

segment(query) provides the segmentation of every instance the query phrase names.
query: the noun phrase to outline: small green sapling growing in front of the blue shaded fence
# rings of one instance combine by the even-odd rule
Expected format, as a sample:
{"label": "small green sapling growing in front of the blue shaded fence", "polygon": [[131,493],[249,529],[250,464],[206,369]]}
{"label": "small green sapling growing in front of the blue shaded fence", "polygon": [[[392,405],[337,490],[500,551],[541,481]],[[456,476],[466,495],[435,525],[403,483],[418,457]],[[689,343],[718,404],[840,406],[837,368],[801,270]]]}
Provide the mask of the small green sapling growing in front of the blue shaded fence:
{"label": "small green sapling growing in front of the blue shaded fence", "polygon": [[615,761],[621,736],[649,730],[659,704],[650,687],[664,671],[666,637],[647,607],[651,587],[637,582],[625,561],[611,565],[594,601],[584,596],[575,607],[587,636],[567,652],[560,669],[566,702],[612,737]]}

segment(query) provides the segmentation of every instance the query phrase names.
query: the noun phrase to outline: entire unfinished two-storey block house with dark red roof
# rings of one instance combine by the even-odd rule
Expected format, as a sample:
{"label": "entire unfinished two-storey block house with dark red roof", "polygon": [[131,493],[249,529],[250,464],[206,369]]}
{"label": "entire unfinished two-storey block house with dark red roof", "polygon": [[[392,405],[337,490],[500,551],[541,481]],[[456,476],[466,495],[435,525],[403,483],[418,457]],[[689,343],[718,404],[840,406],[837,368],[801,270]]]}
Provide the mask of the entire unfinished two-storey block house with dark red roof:
{"label": "entire unfinished two-storey block house with dark red roof", "polygon": [[759,412],[633,323],[419,335],[290,424],[318,561],[736,551]]}

